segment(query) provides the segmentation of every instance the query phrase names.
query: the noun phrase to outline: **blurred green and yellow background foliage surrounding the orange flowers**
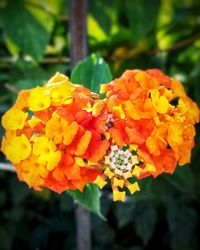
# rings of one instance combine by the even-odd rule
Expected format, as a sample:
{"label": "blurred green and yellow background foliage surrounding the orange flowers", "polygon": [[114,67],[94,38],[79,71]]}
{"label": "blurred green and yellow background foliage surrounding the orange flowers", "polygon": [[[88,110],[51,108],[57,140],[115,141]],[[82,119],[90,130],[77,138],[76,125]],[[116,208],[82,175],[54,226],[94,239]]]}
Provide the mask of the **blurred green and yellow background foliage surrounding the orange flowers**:
{"label": "blurred green and yellow background foliage surrounding the orange flowers", "polygon": [[[89,52],[98,51],[114,77],[128,68],[160,68],[200,104],[199,9],[199,0],[91,0]],[[17,90],[41,85],[56,71],[69,75],[68,14],[65,0],[0,0],[1,114]],[[96,70],[110,77],[98,60]],[[141,192],[125,203],[113,203],[109,188],[102,193],[107,221],[92,215],[94,250],[200,249],[199,132],[190,165],[140,181]],[[70,195],[29,190],[1,171],[0,250],[75,249],[75,206]]]}

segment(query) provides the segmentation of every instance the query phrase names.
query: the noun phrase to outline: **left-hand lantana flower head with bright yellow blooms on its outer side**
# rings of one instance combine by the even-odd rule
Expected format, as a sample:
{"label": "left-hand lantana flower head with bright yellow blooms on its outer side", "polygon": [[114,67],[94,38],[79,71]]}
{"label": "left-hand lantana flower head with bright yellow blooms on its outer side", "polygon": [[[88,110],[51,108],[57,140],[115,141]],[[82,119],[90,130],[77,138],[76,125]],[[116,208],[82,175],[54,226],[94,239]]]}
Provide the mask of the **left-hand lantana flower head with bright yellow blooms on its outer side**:
{"label": "left-hand lantana flower head with bright yellow blooms on its outer side", "polygon": [[96,165],[109,147],[101,137],[104,103],[96,98],[59,73],[44,87],[19,93],[2,117],[1,150],[20,180],[56,192],[83,190],[94,181],[100,173]]}

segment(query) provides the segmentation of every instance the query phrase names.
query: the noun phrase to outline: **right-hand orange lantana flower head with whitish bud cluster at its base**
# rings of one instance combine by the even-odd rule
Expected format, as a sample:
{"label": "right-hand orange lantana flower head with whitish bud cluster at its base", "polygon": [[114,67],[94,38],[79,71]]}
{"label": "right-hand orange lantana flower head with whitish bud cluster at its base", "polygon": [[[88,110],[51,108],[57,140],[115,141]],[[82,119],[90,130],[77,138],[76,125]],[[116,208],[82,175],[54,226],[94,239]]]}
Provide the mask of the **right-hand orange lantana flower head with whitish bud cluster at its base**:
{"label": "right-hand orange lantana flower head with whitish bud cluster at its base", "polygon": [[124,187],[132,194],[138,179],[190,162],[199,109],[180,81],[158,69],[127,70],[101,86],[105,93],[110,148],[95,182],[102,188],[110,179],[113,199],[124,201]]}

